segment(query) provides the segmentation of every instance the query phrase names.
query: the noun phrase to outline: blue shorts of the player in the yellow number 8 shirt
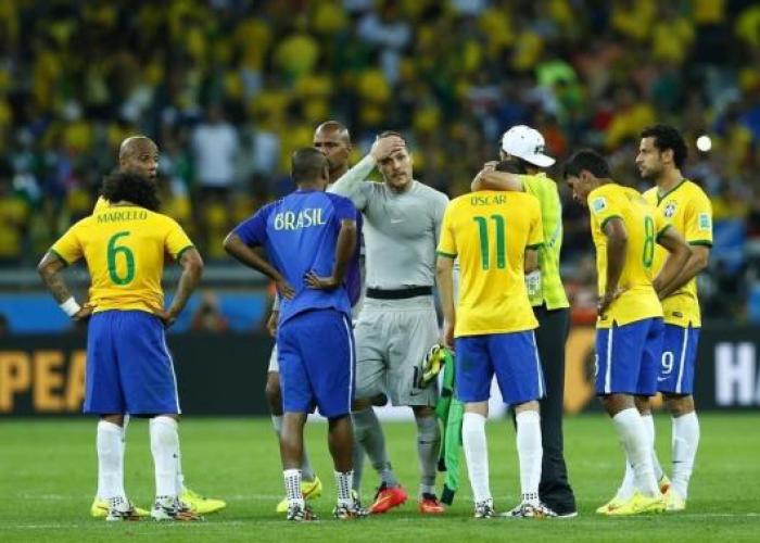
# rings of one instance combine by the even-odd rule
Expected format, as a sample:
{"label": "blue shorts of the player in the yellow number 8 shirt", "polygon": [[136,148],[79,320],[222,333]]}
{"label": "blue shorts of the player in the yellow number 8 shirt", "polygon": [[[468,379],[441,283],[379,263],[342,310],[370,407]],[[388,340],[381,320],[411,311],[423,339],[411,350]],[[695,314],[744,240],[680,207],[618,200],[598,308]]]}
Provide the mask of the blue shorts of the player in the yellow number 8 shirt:
{"label": "blue shorts of the player in the yellow number 8 shirt", "polygon": [[662,352],[661,318],[596,330],[596,394],[653,396]]}

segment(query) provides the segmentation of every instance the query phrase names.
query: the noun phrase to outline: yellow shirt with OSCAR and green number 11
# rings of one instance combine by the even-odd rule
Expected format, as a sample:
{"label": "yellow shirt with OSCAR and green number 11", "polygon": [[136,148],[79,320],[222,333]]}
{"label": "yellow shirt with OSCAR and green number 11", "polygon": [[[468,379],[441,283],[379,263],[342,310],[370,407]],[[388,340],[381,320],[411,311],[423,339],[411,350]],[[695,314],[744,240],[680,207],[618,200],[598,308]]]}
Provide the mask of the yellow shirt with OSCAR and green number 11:
{"label": "yellow shirt with OSCAR and green number 11", "polygon": [[443,215],[438,254],[459,258],[454,336],[532,330],[525,249],[544,242],[539,200],[524,192],[483,190],[452,200]]}

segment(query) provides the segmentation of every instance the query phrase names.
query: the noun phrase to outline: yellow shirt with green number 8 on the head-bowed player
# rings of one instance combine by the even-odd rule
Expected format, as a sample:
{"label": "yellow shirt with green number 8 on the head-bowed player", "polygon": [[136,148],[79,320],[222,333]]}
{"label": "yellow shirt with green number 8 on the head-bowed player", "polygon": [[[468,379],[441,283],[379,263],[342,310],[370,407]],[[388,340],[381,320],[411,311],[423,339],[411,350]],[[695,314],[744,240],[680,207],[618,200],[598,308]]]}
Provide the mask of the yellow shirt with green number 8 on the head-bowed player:
{"label": "yellow shirt with green number 8 on the head-bowed player", "polygon": [[657,238],[668,225],[636,190],[610,182],[588,193],[591,231],[596,247],[599,295],[607,288],[607,236],[605,225],[619,218],[625,226],[625,264],[618,287],[623,291],[596,320],[597,328],[610,328],[645,318],[661,317],[662,305],[653,287],[653,264]]}

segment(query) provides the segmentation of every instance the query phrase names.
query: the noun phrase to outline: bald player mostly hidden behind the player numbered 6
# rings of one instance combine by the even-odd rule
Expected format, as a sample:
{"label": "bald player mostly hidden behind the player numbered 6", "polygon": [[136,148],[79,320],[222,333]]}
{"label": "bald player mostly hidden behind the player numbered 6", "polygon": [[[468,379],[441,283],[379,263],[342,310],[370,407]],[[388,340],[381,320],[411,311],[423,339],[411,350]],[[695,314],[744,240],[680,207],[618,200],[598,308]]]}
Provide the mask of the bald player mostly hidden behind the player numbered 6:
{"label": "bald player mostly hidden behind the player numbered 6", "polygon": [[[147,136],[130,136],[118,148],[118,169],[121,172],[132,172],[140,174],[151,184],[156,180],[159,171],[159,146]],[[102,194],[96,202],[92,214],[102,212],[111,206],[111,202]],[[123,417],[119,426],[122,427],[122,442],[126,445],[127,427],[129,426],[129,416]],[[124,453],[122,453],[124,454]],[[177,462],[177,484],[181,488],[181,500],[188,504],[194,513],[199,515],[208,515],[224,509],[227,504],[223,500],[214,497],[205,497],[198,492],[188,489],[185,485],[185,475],[182,473],[181,452]],[[98,492],[92,501],[90,514],[96,518],[105,517],[109,513],[109,504],[102,498],[102,478],[98,477]],[[139,515],[148,515],[148,512],[136,508]]]}

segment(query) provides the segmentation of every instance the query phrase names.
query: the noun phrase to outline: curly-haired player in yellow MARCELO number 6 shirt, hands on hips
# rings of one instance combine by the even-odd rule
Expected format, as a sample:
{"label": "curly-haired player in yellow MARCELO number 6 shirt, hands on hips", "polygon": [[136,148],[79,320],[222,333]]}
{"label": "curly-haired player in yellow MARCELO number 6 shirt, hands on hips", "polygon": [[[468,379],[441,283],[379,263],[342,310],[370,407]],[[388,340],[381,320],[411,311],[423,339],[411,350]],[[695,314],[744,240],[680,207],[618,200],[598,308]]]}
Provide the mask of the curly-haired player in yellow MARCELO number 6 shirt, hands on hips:
{"label": "curly-haired player in yellow MARCELO number 6 shirt, hands on hips", "polygon": [[[197,520],[179,500],[177,484],[179,397],[165,328],[185,308],[201,279],[203,261],[182,228],[155,212],[155,185],[135,173],[103,182],[111,205],[72,226],[42,257],[39,273],[61,308],[73,319],[89,318],[85,413],[98,424],[98,463],[107,520],[134,520],[124,490],[123,414],[150,417],[155,463],[156,520]],[[177,292],[164,308],[164,255],[182,266]],[[90,300],[79,306],[60,270],[85,258]]]}

